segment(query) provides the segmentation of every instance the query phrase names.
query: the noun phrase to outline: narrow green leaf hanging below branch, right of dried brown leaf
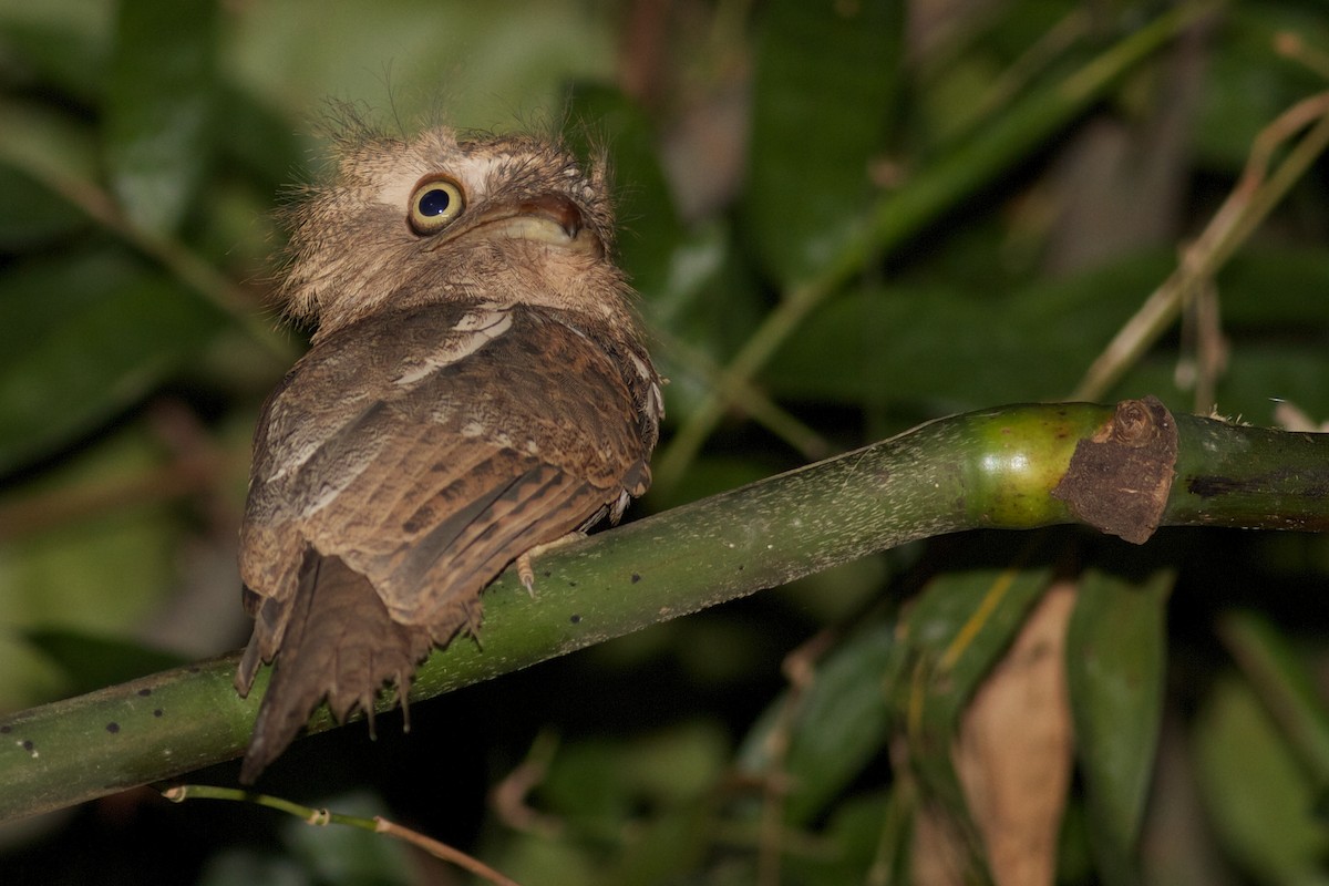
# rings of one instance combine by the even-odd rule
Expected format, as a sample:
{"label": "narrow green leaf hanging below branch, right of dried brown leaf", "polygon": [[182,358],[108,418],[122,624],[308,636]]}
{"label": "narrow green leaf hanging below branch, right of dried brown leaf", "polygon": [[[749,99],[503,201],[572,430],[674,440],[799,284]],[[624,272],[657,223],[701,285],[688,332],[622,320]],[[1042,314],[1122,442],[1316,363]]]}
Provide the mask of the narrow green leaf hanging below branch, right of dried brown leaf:
{"label": "narrow green leaf hanging below branch, right of dried brown leaf", "polygon": [[1106,882],[1130,871],[1163,713],[1167,599],[1175,571],[1088,570],[1066,642],[1071,716]]}

